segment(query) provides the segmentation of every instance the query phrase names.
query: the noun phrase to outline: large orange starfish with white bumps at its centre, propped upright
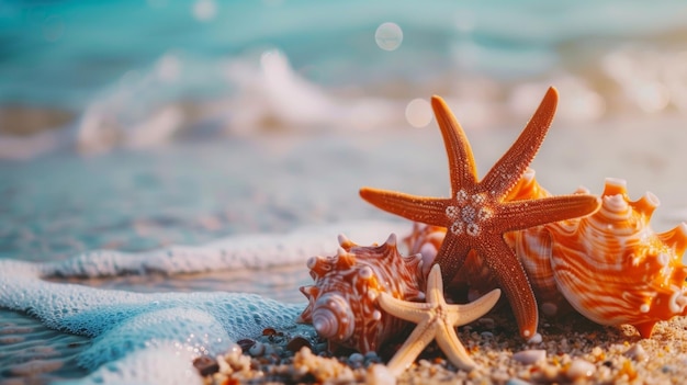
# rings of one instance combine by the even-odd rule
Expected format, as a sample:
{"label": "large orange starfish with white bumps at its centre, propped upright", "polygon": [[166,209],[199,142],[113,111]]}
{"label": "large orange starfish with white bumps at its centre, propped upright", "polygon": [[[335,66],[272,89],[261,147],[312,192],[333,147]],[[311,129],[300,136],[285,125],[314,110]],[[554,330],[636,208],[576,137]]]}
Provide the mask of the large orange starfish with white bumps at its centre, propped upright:
{"label": "large orange starfish with white bumps at its centre, propped upright", "polygon": [[461,269],[468,253],[475,250],[506,293],[520,335],[526,340],[537,336],[537,302],[525,269],[504,240],[504,233],[584,216],[599,206],[598,197],[583,194],[506,201],[539,150],[551,126],[558,100],[558,91],[550,88],[518,139],[486,177],[477,181],[465,133],[446,102],[432,97],[431,106],[449,156],[451,196],[416,196],[371,188],[360,190],[365,201],[384,211],[448,228],[435,260],[441,265],[446,282],[450,282]]}

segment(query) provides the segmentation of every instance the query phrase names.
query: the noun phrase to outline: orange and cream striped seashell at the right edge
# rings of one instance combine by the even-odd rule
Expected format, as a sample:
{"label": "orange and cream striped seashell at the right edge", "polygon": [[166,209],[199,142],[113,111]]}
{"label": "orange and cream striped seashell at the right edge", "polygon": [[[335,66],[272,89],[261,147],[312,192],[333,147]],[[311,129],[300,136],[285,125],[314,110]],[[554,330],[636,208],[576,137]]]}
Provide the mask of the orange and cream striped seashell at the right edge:
{"label": "orange and cream striped seashell at the right edge", "polygon": [[646,193],[631,202],[624,180],[607,179],[601,197],[595,214],[547,225],[555,281],[585,317],[651,337],[657,321],[687,314],[687,224],[654,233],[658,199]]}

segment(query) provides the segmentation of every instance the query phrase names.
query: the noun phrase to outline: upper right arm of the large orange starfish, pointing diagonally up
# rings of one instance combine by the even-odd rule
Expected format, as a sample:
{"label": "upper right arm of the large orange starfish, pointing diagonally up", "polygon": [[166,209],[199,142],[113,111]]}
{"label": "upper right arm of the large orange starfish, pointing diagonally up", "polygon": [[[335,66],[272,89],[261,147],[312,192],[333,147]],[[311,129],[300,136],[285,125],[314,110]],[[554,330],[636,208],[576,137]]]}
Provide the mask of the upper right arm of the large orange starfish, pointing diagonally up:
{"label": "upper right arm of the large orange starfish, pointing diagonally up", "polygon": [[539,151],[553,121],[558,102],[559,92],[553,87],[549,88],[518,139],[482,180],[484,191],[492,192],[494,196],[503,196],[515,186]]}

